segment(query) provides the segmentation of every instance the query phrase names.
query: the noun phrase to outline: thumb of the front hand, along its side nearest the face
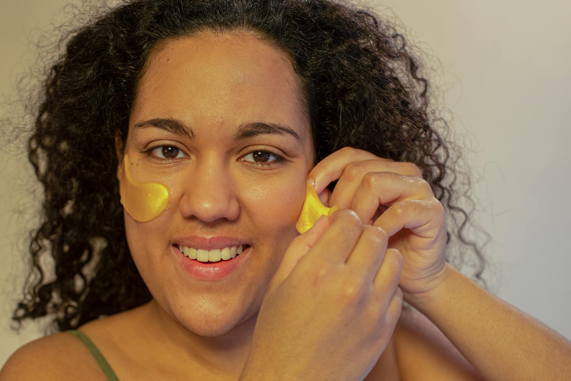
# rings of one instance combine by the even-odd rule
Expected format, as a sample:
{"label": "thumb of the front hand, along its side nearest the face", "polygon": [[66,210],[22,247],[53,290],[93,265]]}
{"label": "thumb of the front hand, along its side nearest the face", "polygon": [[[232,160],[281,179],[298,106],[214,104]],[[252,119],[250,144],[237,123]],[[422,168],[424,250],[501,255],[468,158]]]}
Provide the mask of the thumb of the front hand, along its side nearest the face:
{"label": "thumb of the front hand, along its side nearest the face", "polygon": [[307,254],[309,250],[311,250],[313,245],[315,245],[319,237],[323,234],[328,226],[329,218],[328,216],[322,214],[312,227],[310,227],[303,234],[293,238],[282,258],[282,262],[280,262],[278,270],[276,270],[274,276],[270,280],[268,288],[272,288],[272,286],[278,286],[284,281],[284,279],[289,276],[297,264],[297,261],[302,256]]}

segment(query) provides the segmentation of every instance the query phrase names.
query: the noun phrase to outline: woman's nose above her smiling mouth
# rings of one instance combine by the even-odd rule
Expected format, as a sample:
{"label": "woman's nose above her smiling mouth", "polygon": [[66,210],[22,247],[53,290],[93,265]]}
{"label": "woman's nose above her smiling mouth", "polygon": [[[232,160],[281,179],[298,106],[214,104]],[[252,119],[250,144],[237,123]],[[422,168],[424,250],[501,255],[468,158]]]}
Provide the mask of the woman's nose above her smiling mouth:
{"label": "woman's nose above her smiling mouth", "polygon": [[184,174],[179,202],[184,218],[195,216],[204,222],[219,218],[238,218],[240,205],[227,171],[212,170],[209,165],[196,166]]}

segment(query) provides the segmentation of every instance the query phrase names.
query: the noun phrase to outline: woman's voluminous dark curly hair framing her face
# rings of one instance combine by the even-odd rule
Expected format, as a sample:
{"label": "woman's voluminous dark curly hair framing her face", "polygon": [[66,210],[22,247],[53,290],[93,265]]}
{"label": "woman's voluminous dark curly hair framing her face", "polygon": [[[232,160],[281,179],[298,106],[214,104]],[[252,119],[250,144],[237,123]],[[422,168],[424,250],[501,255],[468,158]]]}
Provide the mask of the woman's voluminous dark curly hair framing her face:
{"label": "woman's voluminous dark curly hair framing her face", "polygon": [[[45,199],[31,234],[33,266],[12,316],[18,330],[23,319],[50,314],[49,330],[64,331],[151,300],[127,246],[114,137],[127,135],[151,51],[204,31],[248,31],[288,55],[300,78],[315,162],[350,146],[419,166],[472,249],[472,278],[487,287],[481,274],[488,261],[463,235],[469,214],[455,205],[461,151],[442,137],[448,123],[429,102],[421,62],[395,26],[341,0],[133,0],[98,7],[63,35],[65,52],[42,79],[27,151]],[[449,163],[451,152],[456,159]],[[469,178],[466,184],[469,199]],[[464,216],[461,224],[456,214]],[[448,246],[447,261],[460,268],[468,254]],[[43,255],[53,259],[55,279],[45,279]]]}

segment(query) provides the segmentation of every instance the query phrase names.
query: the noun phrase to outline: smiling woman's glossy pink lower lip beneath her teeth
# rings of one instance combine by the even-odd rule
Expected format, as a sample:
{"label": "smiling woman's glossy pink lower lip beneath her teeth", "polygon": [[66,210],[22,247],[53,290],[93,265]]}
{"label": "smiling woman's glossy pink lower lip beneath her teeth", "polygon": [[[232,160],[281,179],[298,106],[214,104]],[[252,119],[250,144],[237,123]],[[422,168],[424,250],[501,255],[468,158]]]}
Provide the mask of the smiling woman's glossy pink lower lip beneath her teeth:
{"label": "smiling woman's glossy pink lower lip beneath her teeth", "polygon": [[234,258],[220,259],[218,262],[200,262],[200,260],[190,259],[178,250],[178,245],[171,247],[180,267],[187,274],[203,280],[219,280],[226,278],[246,262],[251,246],[248,246],[246,250],[242,251],[242,254],[237,254]]}

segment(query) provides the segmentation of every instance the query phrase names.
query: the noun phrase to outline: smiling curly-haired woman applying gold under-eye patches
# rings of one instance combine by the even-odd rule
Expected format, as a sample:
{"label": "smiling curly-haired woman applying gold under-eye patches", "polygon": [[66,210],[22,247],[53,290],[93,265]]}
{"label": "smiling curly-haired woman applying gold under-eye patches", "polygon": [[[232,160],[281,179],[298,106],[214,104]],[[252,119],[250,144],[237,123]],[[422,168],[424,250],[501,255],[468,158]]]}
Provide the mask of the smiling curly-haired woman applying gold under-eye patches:
{"label": "smiling curly-haired woman applying gold under-eye patches", "polygon": [[[53,312],[59,332],[0,379],[571,371],[567,340],[447,263],[446,211],[465,213],[427,81],[364,10],[128,2],[73,34],[45,90],[30,251],[41,273],[50,252],[57,279],[14,320]],[[328,216],[299,234],[308,181]]]}

